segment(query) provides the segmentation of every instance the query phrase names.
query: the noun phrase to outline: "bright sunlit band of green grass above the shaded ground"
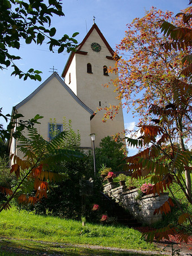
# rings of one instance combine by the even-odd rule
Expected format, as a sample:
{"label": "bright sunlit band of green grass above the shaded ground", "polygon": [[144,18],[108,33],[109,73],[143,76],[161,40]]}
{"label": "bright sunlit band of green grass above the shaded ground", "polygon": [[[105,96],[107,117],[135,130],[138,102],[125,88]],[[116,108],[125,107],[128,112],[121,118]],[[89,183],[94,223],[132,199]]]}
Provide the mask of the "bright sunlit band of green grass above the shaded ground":
{"label": "bright sunlit band of green grass above the shaded ground", "polygon": [[[35,240],[71,245],[89,244],[124,249],[154,250],[154,246],[141,239],[141,233],[134,229],[91,223],[87,223],[83,228],[82,223],[75,220],[39,216],[16,209],[1,212],[0,236],[11,238],[12,240],[9,241],[14,244],[20,240],[19,243],[22,245],[24,241],[28,243],[28,240],[31,240],[30,244],[32,244],[32,241]],[[23,248],[23,246],[21,247]],[[73,250],[75,249],[73,248]]]}

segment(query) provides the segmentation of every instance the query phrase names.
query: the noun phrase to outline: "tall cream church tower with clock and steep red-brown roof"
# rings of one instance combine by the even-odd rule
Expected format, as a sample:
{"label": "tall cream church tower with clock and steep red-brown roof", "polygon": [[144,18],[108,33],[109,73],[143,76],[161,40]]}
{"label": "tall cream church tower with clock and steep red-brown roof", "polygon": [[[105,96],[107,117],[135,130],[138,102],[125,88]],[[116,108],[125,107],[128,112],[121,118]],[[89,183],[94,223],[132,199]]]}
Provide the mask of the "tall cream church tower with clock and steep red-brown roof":
{"label": "tall cream church tower with clock and steep red-brown roof", "polygon": [[91,119],[91,133],[97,134],[95,146],[103,137],[111,136],[124,131],[123,111],[119,110],[114,120],[102,122],[105,110],[99,108],[110,105],[118,105],[115,87],[104,87],[116,79],[115,73],[108,73],[107,68],[114,67],[114,50],[108,44],[96,24],[93,24],[84,40],[77,47],[77,51],[71,53],[62,77],[65,83],[72,89],[76,96],[97,114]]}

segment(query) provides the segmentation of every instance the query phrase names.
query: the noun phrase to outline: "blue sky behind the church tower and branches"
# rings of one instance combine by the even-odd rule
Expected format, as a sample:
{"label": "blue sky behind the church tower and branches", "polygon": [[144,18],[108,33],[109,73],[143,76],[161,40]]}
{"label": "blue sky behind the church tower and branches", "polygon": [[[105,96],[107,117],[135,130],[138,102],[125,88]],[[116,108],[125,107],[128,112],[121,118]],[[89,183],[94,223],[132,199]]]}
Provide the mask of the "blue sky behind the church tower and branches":
{"label": "blue sky behind the church tower and branches", "polygon": [[[141,18],[152,6],[177,14],[188,6],[189,0],[66,0],[62,2],[65,16],[55,16],[51,24],[57,30],[56,38],[62,37],[63,34],[72,36],[74,32],[79,32],[76,39],[80,43],[93,25],[93,16],[95,16],[95,23],[115,50],[115,46],[124,37],[126,24],[131,23],[134,18]],[[42,46],[25,45],[24,40],[21,41],[19,50],[11,50],[10,53],[22,57],[17,63],[21,70],[28,71],[29,68],[34,68],[43,73],[42,81],[38,82],[23,81],[18,77],[10,76],[11,68],[0,72],[0,106],[3,107],[3,114],[11,113],[12,106],[18,104],[42,84],[51,75],[50,68],[54,66],[61,75],[69,56],[66,51],[61,54],[56,51],[50,53],[45,43]],[[132,114],[124,110],[124,121],[125,128],[134,128],[137,118],[133,119]],[[6,126],[3,119],[0,119],[0,123]],[[130,153],[133,154],[134,151],[130,150]]]}

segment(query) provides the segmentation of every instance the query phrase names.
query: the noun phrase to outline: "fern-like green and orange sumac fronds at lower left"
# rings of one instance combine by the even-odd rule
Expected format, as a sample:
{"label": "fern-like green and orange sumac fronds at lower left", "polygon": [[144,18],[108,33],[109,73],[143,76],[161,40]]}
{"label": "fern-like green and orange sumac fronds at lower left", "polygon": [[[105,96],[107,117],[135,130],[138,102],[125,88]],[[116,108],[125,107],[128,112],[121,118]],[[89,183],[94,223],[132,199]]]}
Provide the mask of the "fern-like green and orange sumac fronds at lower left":
{"label": "fern-like green and orange sumac fronds at lower left", "polygon": [[[14,164],[10,173],[15,173],[19,182],[14,191],[6,186],[1,187],[1,193],[6,194],[7,199],[1,204],[0,211],[10,209],[10,201],[13,198],[18,198],[19,203],[30,204],[40,202],[43,197],[47,198],[47,190],[50,190],[49,181],[63,180],[67,177],[52,171],[56,163],[83,157],[83,154],[77,151],[58,148],[67,136],[66,132],[58,134],[51,141],[46,141],[38,134],[36,128],[30,127],[27,131],[28,137],[21,134],[18,145],[24,159],[11,155]],[[32,191],[34,193],[30,194]]]}

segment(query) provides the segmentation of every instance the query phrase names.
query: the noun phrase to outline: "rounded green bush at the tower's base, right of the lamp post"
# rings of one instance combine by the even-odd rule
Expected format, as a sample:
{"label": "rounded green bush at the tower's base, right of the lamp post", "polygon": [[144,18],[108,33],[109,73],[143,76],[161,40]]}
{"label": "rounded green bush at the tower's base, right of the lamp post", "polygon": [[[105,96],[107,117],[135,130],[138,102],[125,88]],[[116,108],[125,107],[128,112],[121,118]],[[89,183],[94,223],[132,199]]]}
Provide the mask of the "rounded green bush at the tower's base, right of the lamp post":
{"label": "rounded green bush at the tower's base, right of the lamp post", "polygon": [[97,170],[104,164],[114,171],[122,171],[125,164],[125,144],[120,137],[116,140],[113,137],[104,137],[99,143],[100,147],[95,148],[95,159]]}

